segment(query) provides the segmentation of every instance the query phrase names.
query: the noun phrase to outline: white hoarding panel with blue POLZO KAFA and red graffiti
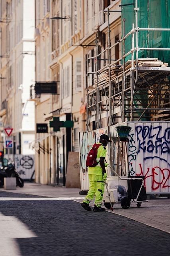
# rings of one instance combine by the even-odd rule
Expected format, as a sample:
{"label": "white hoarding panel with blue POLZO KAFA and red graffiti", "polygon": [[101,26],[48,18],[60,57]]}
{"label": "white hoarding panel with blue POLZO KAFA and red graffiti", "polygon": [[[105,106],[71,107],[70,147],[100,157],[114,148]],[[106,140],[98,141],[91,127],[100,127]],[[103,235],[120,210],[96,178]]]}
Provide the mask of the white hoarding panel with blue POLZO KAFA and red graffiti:
{"label": "white hoarding panel with blue POLZO KAFA and red graffiti", "polygon": [[131,175],[144,175],[147,193],[170,192],[170,122],[128,122]]}

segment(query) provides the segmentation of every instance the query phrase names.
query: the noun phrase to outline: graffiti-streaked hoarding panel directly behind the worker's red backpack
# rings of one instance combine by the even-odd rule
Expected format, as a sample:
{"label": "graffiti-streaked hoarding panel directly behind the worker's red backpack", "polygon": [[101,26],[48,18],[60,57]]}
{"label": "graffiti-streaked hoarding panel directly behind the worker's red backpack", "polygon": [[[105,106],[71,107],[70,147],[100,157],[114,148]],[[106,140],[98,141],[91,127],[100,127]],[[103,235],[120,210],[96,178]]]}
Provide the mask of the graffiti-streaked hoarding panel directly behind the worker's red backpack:
{"label": "graffiti-streaked hoarding panel directly behind the worker's red backpack", "polygon": [[[89,189],[88,172],[86,170],[86,158],[88,152],[92,148],[93,144],[99,141],[101,134],[108,134],[108,129],[102,128],[89,132],[80,132],[80,182],[82,190]],[[108,155],[106,156],[106,161],[107,158]]]}

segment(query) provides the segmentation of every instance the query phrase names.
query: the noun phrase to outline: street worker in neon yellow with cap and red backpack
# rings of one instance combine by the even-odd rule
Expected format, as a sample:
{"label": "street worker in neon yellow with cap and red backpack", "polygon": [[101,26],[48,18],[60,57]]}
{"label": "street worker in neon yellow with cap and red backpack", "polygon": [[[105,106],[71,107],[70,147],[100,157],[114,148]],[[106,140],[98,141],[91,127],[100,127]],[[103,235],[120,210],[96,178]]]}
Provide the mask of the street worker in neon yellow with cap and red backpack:
{"label": "street worker in neon yellow with cap and red backpack", "polygon": [[[87,210],[91,211],[92,209],[89,206],[91,200],[93,200],[94,194],[96,196],[94,202],[94,209],[93,212],[104,212],[105,208],[102,208],[102,199],[104,194],[104,186],[105,180],[107,178],[107,173],[105,167],[108,165],[105,157],[106,157],[106,146],[109,140],[109,136],[107,134],[102,134],[100,136],[100,140],[98,143],[95,143],[88,153],[86,166],[88,166],[88,177],[89,177],[89,191],[82,202],[82,207]],[[96,156],[95,156],[96,150]],[[90,160],[93,160],[90,162]]]}

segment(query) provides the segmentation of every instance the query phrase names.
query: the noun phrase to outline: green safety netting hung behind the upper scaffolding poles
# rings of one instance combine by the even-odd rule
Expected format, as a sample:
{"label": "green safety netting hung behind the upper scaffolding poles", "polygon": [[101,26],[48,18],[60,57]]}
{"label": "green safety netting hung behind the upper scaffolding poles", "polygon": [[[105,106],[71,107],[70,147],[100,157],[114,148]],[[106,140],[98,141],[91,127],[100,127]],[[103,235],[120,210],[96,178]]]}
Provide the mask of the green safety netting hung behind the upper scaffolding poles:
{"label": "green safety netting hung behind the upper scaffolding poles", "polygon": [[[121,4],[130,4],[133,0],[122,0]],[[125,34],[135,24],[134,5],[122,6],[122,34],[123,19],[125,19]],[[139,28],[170,28],[170,0],[138,0],[138,27]],[[135,25],[136,26],[136,25]],[[170,31],[139,31],[138,46],[140,48],[170,48]],[[125,40],[125,53],[132,48],[131,35]],[[170,51],[140,50],[138,58],[158,58],[169,63]],[[125,61],[131,59],[131,54]]]}

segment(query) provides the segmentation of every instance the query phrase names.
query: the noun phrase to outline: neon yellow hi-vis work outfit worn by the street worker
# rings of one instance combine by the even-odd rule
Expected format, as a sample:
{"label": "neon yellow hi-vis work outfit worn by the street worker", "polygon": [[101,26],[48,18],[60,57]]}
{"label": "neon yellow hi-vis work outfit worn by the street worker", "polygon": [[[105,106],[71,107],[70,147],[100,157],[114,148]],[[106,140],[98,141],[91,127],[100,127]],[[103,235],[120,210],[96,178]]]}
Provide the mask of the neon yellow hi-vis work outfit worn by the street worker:
{"label": "neon yellow hi-vis work outfit worn by the street worker", "polygon": [[[98,142],[96,144],[101,144],[101,146],[98,148],[98,154],[97,154],[97,162],[100,161],[100,157],[106,157],[106,147],[102,145],[102,143]],[[108,164],[105,163],[105,166]],[[88,177],[89,177],[89,191],[84,198],[83,203],[89,204],[91,200],[94,198],[94,194],[96,195],[96,200],[94,204],[97,207],[100,207],[102,205],[102,199],[104,194],[104,179],[102,174],[102,167],[100,166],[100,163],[98,163],[95,167],[88,167]]]}

